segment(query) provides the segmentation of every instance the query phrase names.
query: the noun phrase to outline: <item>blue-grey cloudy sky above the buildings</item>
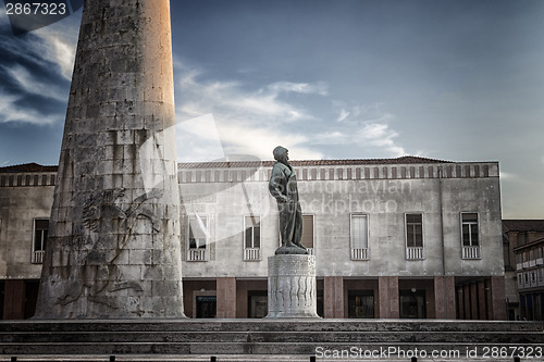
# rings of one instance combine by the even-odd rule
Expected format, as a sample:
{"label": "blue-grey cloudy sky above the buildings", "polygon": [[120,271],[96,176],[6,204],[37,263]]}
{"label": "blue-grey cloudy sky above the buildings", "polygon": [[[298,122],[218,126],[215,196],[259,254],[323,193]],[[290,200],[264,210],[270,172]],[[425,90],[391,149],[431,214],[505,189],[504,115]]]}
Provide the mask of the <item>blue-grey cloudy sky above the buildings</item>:
{"label": "blue-grey cloudy sky above the buildings", "polygon": [[[14,36],[0,2],[0,166],[57,164],[82,11]],[[171,0],[180,161],[498,161],[544,219],[544,1]]]}

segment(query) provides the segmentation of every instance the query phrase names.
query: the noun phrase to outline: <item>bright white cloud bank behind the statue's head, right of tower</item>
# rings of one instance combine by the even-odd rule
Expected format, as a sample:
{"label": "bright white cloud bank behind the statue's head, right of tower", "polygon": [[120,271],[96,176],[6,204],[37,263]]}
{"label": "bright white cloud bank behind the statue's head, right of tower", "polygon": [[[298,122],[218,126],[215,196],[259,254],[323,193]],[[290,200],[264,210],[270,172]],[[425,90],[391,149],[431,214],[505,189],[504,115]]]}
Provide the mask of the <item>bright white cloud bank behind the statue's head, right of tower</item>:
{"label": "bright white cloud bank behind the statue's head, right of tower", "polygon": [[[325,85],[279,82],[259,89],[247,89],[248,85],[239,82],[205,80],[202,72],[188,68],[178,61],[174,62],[174,66],[178,74],[178,133],[191,136],[185,141],[185,145],[191,145],[190,148],[183,143],[177,146],[184,149],[184,161],[212,157],[206,151],[206,145],[213,145],[211,149],[218,150],[218,141],[212,139],[215,137],[219,137],[225,155],[249,154],[270,160],[274,147],[283,145],[293,158],[299,160],[323,158],[321,152],[307,146],[309,137],[295,126],[314,117],[308,110],[280,100],[279,96],[293,92],[321,96]],[[210,120],[213,120],[213,126]]]}

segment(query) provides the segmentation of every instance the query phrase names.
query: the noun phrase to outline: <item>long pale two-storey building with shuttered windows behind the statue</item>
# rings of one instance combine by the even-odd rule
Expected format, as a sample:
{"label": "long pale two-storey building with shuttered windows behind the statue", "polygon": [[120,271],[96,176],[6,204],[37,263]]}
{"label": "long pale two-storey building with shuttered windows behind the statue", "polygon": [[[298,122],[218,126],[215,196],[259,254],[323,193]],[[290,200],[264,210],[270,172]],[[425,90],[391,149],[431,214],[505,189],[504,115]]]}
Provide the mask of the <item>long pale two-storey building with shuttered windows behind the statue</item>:
{"label": "long pale two-storey building with shuttered windows behind the statue", "polygon": [[[496,162],[405,157],[292,164],[322,316],[506,320]],[[268,191],[272,165],[180,164],[187,316],[267,314],[267,261],[280,246]],[[54,170],[27,167],[0,168],[4,319],[32,315],[42,221],[52,203]]]}

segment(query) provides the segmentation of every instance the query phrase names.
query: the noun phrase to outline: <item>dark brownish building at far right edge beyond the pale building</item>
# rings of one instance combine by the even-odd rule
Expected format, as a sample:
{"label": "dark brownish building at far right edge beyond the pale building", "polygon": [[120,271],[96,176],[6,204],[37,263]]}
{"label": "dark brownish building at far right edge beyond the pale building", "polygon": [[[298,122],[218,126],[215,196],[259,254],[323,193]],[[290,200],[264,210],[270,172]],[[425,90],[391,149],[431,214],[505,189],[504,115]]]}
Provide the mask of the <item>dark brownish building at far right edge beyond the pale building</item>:
{"label": "dark brownish building at far right edge beyond the pale building", "polygon": [[[504,220],[503,232],[509,242],[509,258],[515,266],[512,279],[507,272],[507,286],[516,280],[518,292],[516,319],[544,320],[544,220]],[[505,258],[506,259],[506,258]],[[510,287],[511,288],[511,287]],[[508,289],[510,289],[508,288]],[[510,304],[510,300],[508,300]],[[511,313],[510,313],[511,317]]]}

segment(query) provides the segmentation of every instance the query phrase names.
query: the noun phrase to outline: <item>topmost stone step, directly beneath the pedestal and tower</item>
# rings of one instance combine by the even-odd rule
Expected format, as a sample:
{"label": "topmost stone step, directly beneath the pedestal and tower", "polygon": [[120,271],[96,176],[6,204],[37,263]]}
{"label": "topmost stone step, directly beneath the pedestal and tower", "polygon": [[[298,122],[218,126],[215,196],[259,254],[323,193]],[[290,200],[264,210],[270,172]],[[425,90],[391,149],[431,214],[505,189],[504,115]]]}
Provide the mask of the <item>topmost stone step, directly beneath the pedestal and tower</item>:
{"label": "topmost stone step, directly beneath the pedestal and tower", "polygon": [[26,320],[0,332],[543,332],[543,322],[441,320]]}

